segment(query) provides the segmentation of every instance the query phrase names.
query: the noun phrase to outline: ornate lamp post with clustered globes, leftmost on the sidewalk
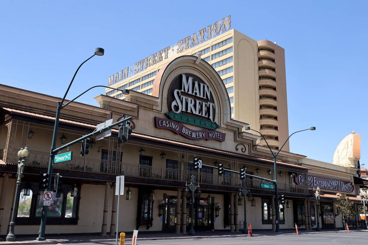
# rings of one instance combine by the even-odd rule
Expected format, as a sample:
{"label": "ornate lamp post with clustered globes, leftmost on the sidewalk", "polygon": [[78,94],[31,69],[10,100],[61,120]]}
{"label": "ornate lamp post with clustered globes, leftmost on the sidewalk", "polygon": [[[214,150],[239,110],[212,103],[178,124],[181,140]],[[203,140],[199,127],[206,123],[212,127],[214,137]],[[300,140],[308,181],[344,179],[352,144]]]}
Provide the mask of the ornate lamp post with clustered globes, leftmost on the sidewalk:
{"label": "ornate lamp post with clustered globes, leftmost on the sidewalk", "polygon": [[10,226],[9,233],[6,236],[6,241],[7,242],[14,242],[15,241],[14,226],[15,226],[15,217],[17,217],[18,206],[19,206],[18,195],[19,195],[19,191],[20,191],[19,189],[20,189],[20,185],[21,185],[21,181],[22,181],[22,174],[23,174],[23,170],[24,170],[24,165],[25,165],[25,161],[27,159],[28,153],[29,152],[28,152],[27,147],[25,147],[24,149],[21,148],[20,151],[18,151],[17,188],[15,189],[13,214],[11,216],[11,221],[10,221],[10,224],[9,224],[9,226]]}

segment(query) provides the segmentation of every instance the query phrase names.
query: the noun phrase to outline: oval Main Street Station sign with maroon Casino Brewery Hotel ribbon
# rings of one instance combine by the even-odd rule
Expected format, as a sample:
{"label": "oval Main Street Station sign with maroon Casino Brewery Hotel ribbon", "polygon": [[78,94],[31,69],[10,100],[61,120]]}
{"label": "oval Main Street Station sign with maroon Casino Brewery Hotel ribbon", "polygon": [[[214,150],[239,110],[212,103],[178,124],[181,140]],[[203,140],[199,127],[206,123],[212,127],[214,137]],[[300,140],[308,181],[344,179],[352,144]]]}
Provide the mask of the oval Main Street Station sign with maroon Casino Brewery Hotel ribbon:
{"label": "oval Main Street Station sign with maroon Casino Brewery Hotel ribbon", "polygon": [[[170,84],[167,95],[169,119],[155,117],[156,127],[168,129],[192,140],[224,141],[225,135],[216,131],[220,126],[215,120],[216,107],[211,88],[190,73],[177,76]],[[192,130],[184,124],[205,128]]]}

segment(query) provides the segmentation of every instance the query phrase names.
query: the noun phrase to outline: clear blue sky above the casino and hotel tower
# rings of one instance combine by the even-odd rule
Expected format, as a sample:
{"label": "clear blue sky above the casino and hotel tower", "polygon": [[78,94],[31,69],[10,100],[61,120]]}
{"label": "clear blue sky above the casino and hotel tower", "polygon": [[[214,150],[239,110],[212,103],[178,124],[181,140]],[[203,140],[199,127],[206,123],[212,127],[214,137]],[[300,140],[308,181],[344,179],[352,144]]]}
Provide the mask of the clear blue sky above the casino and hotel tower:
{"label": "clear blue sky above the casino and hotel tower", "polygon": [[[231,15],[231,28],[285,49],[290,151],[332,163],[361,134],[367,159],[367,1],[2,1],[0,83],[67,99]],[[359,72],[358,72],[359,71]],[[77,101],[98,106],[95,89]],[[365,167],[368,167],[365,166]]]}

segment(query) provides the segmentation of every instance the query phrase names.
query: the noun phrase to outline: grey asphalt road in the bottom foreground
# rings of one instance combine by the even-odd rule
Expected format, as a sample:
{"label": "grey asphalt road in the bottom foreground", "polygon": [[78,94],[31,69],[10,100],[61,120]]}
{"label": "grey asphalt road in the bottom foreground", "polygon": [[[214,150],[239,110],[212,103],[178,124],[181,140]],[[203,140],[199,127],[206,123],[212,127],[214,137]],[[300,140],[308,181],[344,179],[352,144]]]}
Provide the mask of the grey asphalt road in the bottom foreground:
{"label": "grey asphalt road in the bottom foreground", "polygon": [[[323,233],[300,235],[275,235],[260,237],[236,237],[236,238],[206,238],[206,239],[174,239],[137,241],[137,245],[244,245],[244,244],[282,244],[282,245],[350,245],[367,244],[368,233]],[[119,243],[118,243],[119,244]],[[68,245],[115,245],[115,242],[76,243]],[[125,242],[131,245],[131,242]]]}

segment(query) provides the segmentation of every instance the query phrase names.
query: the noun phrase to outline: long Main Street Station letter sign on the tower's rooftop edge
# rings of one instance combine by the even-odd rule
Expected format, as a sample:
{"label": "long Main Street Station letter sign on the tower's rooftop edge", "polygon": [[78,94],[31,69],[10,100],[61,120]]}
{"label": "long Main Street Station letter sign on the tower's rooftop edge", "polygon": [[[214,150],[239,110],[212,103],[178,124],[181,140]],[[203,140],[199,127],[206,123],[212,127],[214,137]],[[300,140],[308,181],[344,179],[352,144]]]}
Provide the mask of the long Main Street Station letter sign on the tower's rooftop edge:
{"label": "long Main Street Station letter sign on the tower's rooftop edge", "polygon": [[231,15],[223,18],[221,21],[216,21],[213,25],[202,28],[198,32],[193,33],[193,35],[179,40],[177,44],[165,47],[162,50],[153,53],[151,56],[137,61],[133,66],[124,68],[120,72],[116,72],[116,74],[109,76],[107,86],[127,79],[130,76],[137,74],[138,72],[144,71],[152,65],[156,65],[162,61],[167,60],[168,58],[172,58],[177,54],[184,52],[188,48],[192,48],[200,43],[212,39],[213,37],[221,35],[222,33],[230,29],[230,18]]}

